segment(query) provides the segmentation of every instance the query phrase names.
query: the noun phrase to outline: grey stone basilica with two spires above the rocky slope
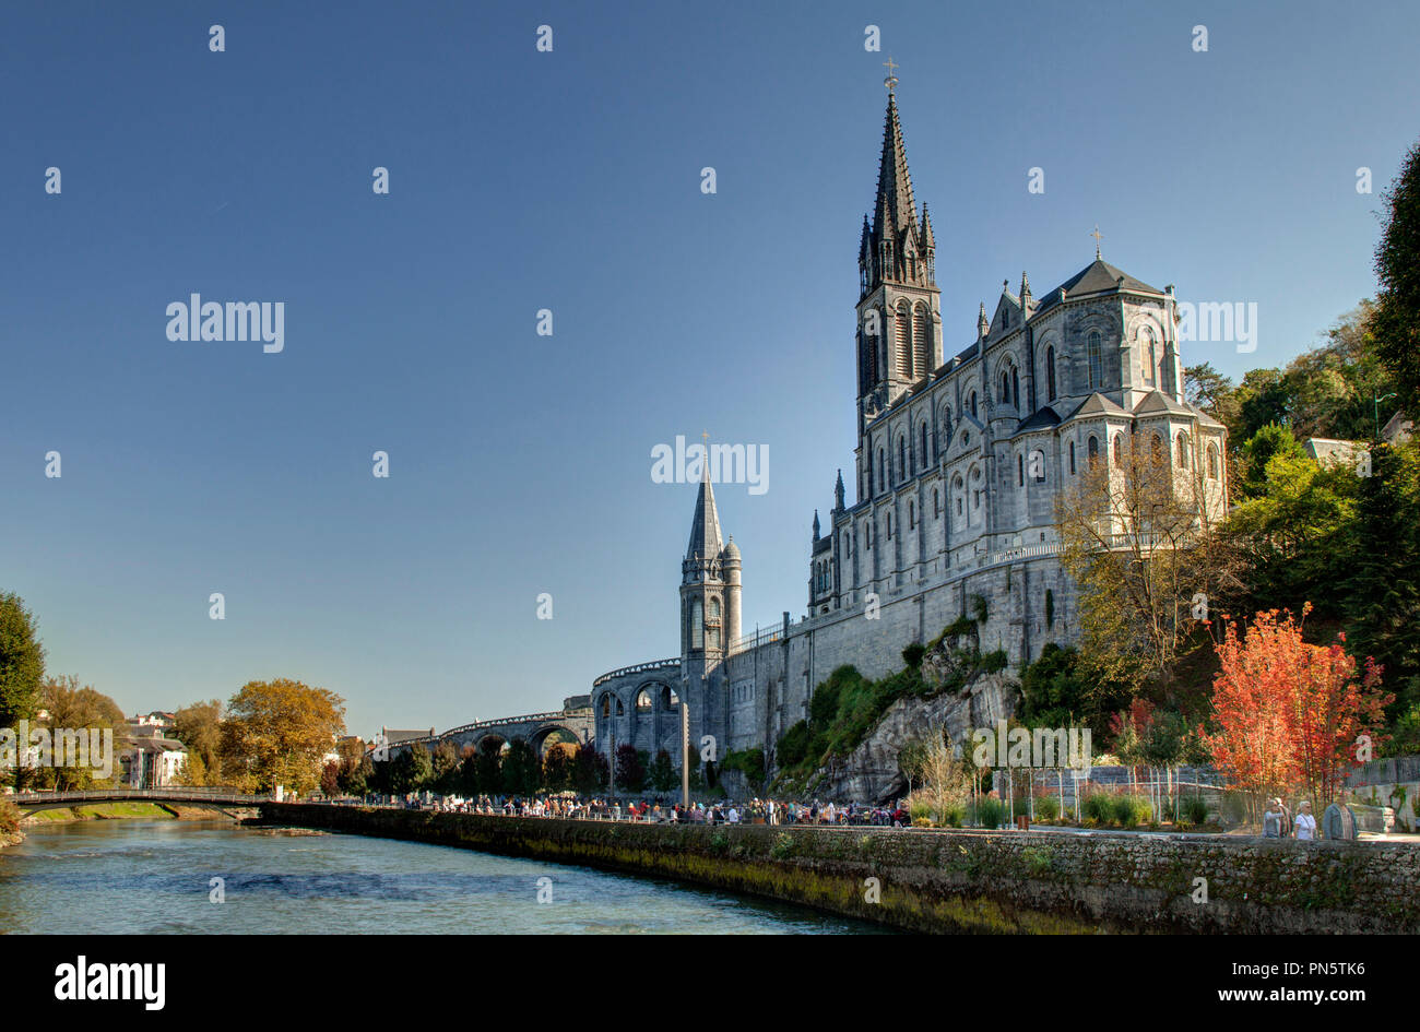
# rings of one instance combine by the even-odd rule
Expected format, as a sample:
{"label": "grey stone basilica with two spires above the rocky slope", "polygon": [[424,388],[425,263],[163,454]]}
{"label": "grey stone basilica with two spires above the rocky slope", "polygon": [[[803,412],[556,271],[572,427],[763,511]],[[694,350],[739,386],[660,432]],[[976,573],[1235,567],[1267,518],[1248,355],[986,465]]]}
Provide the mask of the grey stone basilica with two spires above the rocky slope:
{"label": "grey stone basilica with two spires above the rocky slope", "polygon": [[1096,247],[1039,300],[1025,274],[1015,292],[1003,284],[976,339],[943,358],[936,236],[892,97],[858,264],[856,501],[839,471],[826,531],[814,514],[805,616],[740,639],[741,556],[706,471],[682,562],[680,657],[596,681],[599,748],[615,738],[679,764],[686,697],[693,744],[771,754],[835,667],[900,669],[906,644],[974,615],[977,596],[984,652],[1020,663],[1075,640],[1055,504],[1086,463],[1119,461],[1136,440],[1152,439],[1211,515],[1225,511],[1225,430],[1184,400],[1173,287],[1122,273]]}

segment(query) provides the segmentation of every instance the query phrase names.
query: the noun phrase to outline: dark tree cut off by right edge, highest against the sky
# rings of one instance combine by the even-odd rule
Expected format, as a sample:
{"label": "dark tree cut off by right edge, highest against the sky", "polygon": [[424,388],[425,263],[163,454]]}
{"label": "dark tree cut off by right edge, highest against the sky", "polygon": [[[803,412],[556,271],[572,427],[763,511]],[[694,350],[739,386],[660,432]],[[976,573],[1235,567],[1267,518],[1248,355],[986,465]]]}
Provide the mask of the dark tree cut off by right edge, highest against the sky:
{"label": "dark tree cut off by right edge, highest against the sky", "polygon": [[1376,247],[1376,351],[1394,376],[1400,407],[1420,412],[1420,143],[1383,194],[1390,209]]}

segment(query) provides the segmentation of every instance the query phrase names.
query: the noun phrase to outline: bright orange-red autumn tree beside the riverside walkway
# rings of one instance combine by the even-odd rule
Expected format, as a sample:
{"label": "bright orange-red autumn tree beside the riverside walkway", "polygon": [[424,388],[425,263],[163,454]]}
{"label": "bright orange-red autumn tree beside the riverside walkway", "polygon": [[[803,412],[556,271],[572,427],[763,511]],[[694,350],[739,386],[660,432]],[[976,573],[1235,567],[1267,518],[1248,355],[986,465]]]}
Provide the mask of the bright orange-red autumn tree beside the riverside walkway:
{"label": "bright orange-red autumn tree beside the riverside walkway", "polygon": [[[1304,619],[1308,612],[1311,603]],[[1358,683],[1343,642],[1306,644],[1292,615],[1275,609],[1258,613],[1245,637],[1228,622],[1213,681],[1217,731],[1203,741],[1254,798],[1305,785],[1321,809],[1336,796],[1345,769],[1360,762],[1360,735],[1382,725],[1390,697],[1377,691],[1380,669],[1367,659]]]}

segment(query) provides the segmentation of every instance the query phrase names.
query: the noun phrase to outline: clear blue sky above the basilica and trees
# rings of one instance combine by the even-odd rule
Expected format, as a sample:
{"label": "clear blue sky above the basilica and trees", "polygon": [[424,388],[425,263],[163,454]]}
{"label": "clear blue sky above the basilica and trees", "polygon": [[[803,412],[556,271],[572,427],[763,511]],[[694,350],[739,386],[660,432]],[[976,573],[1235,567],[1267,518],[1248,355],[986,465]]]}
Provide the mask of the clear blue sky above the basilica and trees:
{"label": "clear blue sky above the basilica and trees", "polygon": [[[746,630],[797,619],[852,466],[889,54],[947,353],[1003,280],[1088,264],[1095,223],[1181,300],[1258,304],[1255,353],[1184,355],[1233,376],[1373,292],[1420,9],[1238,7],[11,7],[0,588],[128,713],[275,676],[364,735],[554,708],[679,650],[694,488],[650,449],[709,430],[770,450],[765,494],[717,491]],[[284,301],[285,351],[168,341],[195,291]]]}

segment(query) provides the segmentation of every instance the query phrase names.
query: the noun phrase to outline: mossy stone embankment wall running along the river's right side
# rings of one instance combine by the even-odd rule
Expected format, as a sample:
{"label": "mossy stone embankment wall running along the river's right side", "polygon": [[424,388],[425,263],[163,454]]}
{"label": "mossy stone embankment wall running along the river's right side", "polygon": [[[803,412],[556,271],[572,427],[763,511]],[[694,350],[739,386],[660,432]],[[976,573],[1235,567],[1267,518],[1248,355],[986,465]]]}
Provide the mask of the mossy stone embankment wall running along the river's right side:
{"label": "mossy stone embankment wall running along the river's right side", "polygon": [[263,823],[669,877],[909,931],[1420,931],[1410,845],[261,811]]}

